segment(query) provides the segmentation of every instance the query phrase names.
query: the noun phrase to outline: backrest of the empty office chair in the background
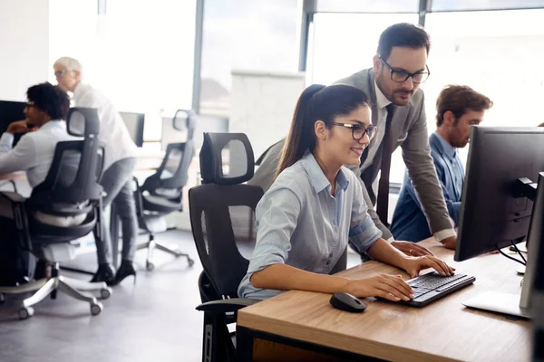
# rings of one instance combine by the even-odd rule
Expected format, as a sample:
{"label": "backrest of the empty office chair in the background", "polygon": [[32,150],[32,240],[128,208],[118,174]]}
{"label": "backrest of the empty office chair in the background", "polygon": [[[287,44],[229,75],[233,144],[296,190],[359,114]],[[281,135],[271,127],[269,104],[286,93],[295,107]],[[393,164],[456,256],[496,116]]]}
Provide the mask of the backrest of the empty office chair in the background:
{"label": "backrest of the empty office chair in the background", "polygon": [[195,155],[192,139],[182,143],[170,143],[166,155],[155,174],[149,176],[142,191],[180,201],[183,187],[187,185],[190,161]]}

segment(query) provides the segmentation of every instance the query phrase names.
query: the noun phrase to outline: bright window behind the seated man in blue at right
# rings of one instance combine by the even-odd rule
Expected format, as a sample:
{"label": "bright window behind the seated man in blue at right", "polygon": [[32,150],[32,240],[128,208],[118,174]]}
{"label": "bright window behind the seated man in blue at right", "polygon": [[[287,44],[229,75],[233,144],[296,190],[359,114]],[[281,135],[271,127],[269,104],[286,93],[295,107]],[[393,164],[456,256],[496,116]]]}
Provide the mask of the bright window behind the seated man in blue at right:
{"label": "bright window behind the seated man in blue at right", "polygon": [[[471,86],[494,102],[482,125],[537,126],[544,100],[544,10],[428,14],[431,78],[423,84],[429,130],[446,84]],[[468,148],[461,150],[466,158]]]}

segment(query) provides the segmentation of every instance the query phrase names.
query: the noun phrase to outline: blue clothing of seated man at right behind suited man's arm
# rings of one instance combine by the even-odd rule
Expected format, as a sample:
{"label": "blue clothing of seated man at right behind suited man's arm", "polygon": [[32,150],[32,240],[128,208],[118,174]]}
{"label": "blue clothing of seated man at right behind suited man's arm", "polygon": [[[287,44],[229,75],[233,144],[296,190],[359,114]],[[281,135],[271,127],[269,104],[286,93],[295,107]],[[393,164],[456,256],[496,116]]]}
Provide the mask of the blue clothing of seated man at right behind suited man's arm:
{"label": "blue clothing of seated man at right behind suited man's arm", "polygon": [[[437,132],[432,133],[429,138],[429,145],[436,174],[448,207],[448,213],[455,226],[457,226],[461,211],[462,182],[464,180],[464,168],[461,159],[457,148],[452,147]],[[394,209],[390,230],[396,240],[409,242],[420,242],[432,235],[408,174],[404,176],[403,187]]]}

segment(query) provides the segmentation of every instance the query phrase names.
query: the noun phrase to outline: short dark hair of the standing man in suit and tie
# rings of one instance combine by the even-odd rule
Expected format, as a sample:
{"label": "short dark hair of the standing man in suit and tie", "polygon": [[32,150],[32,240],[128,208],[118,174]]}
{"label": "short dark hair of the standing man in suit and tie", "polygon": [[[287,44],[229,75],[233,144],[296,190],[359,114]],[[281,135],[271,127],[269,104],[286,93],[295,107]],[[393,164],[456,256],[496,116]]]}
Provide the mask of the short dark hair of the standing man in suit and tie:
{"label": "short dark hair of the standing man in suit and tie", "polygon": [[413,49],[425,48],[427,54],[431,50],[431,39],[423,27],[409,23],[393,24],[384,30],[378,41],[378,55],[385,61],[391,55],[393,46],[404,46]]}

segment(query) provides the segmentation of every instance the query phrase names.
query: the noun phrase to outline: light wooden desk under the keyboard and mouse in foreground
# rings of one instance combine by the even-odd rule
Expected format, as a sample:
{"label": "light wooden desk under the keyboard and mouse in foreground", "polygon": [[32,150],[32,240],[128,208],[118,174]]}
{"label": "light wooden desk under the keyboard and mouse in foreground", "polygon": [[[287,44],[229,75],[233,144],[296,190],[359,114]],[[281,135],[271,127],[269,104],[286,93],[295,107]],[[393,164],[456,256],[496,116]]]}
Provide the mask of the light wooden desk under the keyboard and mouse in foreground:
{"label": "light wooden desk under the keyboard and mouse in foreground", "polygon": [[[528,321],[461,305],[483,291],[519,293],[516,263],[500,254],[453,262],[452,251],[429,240],[423,243],[457,271],[474,275],[474,285],[423,309],[367,299],[361,314],[335,310],[329,294],[288,291],[238,311],[240,360],[251,360],[253,340],[261,338],[340,355],[343,360],[368,356],[392,361],[528,361]],[[399,270],[373,261],[339,275],[356,279],[384,272]]]}

